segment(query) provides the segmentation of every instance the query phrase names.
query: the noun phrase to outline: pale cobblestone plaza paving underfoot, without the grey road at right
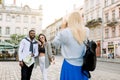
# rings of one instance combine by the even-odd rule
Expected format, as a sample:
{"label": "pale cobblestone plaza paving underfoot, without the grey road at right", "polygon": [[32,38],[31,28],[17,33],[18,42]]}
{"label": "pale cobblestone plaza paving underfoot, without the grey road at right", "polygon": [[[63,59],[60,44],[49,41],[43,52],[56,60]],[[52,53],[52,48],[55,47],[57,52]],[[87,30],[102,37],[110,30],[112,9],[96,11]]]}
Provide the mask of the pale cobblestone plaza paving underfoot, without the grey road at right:
{"label": "pale cobblestone plaza paving underfoot, without the grey road at right", "polygon": [[[63,58],[56,56],[56,63],[48,69],[48,80],[59,80]],[[0,62],[0,80],[20,80],[18,62]],[[31,80],[42,80],[40,68],[33,69]],[[120,80],[120,74],[101,70],[99,67],[92,72],[91,80]]]}

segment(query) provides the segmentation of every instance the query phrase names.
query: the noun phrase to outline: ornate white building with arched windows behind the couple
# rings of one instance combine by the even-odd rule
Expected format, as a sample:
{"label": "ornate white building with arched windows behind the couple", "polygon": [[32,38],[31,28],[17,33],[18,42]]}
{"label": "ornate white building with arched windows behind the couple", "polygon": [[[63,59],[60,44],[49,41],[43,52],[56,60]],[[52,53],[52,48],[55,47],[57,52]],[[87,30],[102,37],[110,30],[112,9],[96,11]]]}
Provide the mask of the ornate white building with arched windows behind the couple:
{"label": "ornate white building with arched windows behind the couple", "polygon": [[42,28],[42,6],[31,9],[28,5],[17,7],[0,4],[0,41],[9,40],[10,35],[28,35],[34,29],[37,34]]}

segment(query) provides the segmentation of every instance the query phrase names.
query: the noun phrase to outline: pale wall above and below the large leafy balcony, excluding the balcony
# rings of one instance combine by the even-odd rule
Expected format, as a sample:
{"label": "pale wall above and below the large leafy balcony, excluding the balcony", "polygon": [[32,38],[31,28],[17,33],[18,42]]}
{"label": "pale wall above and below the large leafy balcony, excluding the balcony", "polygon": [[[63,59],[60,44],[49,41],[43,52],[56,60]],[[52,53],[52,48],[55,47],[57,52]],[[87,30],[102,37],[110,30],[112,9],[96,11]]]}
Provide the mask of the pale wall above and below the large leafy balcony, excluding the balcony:
{"label": "pale wall above and below the large leafy balcony, excluding the balcony", "polygon": [[[93,19],[102,19],[103,0],[85,0],[84,4],[84,20],[85,25]],[[101,25],[89,27],[90,39],[95,41],[101,40]]]}

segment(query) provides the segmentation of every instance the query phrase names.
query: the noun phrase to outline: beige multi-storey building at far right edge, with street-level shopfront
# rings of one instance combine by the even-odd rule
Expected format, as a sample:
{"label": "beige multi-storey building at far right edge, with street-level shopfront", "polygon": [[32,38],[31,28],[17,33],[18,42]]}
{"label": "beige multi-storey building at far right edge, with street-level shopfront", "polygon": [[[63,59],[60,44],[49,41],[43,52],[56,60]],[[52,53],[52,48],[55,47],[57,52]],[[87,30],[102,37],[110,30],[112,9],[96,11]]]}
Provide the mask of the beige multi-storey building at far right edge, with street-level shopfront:
{"label": "beige multi-storey building at far right edge, with street-level shopfront", "polygon": [[120,56],[120,0],[104,2],[104,53]]}

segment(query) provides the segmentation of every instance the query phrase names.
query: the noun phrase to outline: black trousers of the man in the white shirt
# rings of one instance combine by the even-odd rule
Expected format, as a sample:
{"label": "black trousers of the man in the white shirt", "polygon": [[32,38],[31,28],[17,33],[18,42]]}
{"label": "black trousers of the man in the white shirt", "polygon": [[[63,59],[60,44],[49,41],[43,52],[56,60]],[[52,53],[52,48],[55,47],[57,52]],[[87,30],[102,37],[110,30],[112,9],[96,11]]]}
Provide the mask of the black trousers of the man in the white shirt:
{"label": "black trousers of the man in the white shirt", "polygon": [[21,80],[30,80],[34,64],[32,64],[30,67],[27,67],[25,63],[23,64],[24,65],[21,69]]}

